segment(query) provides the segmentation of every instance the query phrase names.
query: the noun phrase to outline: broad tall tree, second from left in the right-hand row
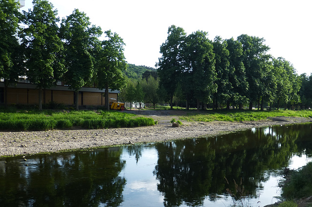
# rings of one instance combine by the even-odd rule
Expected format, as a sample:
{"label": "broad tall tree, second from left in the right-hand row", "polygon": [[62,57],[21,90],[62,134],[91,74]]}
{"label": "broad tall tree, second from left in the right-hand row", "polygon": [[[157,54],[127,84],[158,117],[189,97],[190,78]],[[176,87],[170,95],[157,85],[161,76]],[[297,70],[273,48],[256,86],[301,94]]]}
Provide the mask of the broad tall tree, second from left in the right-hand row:
{"label": "broad tall tree, second from left in the right-hand row", "polygon": [[208,39],[208,33],[196,31],[187,37],[184,49],[184,89],[191,90],[196,100],[197,109],[200,102],[212,102],[212,95],[217,85],[215,72],[215,54],[213,44]]}

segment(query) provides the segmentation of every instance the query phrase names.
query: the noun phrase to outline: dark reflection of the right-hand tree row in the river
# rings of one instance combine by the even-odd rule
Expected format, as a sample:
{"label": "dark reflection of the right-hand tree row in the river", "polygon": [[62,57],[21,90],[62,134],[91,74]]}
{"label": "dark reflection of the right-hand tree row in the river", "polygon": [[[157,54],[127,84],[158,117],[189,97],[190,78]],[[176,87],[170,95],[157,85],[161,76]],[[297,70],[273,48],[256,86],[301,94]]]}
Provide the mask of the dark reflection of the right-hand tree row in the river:
{"label": "dark reflection of the right-hand tree row in the river", "polygon": [[[299,136],[310,145],[299,148]],[[235,192],[234,181],[239,183],[240,179],[246,196],[256,198],[256,189],[270,177],[265,172],[288,166],[293,152],[311,150],[310,137],[311,130],[303,124],[156,144],[155,174],[160,182],[158,190],[165,197],[164,206],[201,206],[206,197],[214,201],[219,195],[227,195],[228,187]],[[236,192],[234,198],[241,198],[241,194]]]}

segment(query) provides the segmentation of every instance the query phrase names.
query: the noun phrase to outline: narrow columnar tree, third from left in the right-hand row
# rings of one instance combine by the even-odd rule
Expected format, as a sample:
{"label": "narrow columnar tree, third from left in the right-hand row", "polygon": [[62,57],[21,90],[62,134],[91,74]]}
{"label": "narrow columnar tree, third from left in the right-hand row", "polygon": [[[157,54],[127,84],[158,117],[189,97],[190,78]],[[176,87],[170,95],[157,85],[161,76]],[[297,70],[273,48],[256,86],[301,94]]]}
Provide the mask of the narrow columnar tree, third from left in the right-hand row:
{"label": "narrow columnar tree, third from left in the right-hand row", "polygon": [[230,76],[233,70],[230,71],[229,56],[230,52],[227,49],[227,41],[221,39],[220,36],[216,36],[213,42],[215,53],[215,72],[217,90],[214,94],[215,108],[218,108],[218,102],[227,104],[227,108],[230,107],[230,98],[232,97],[232,83],[230,82]]}

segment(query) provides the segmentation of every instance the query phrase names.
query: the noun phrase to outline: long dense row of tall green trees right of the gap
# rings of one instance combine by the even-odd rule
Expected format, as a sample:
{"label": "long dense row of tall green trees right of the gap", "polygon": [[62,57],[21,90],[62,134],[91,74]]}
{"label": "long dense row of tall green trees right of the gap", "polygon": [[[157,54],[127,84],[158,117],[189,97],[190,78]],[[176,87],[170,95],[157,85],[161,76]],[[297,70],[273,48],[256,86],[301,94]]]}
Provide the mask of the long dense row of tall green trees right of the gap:
{"label": "long dense row of tall green trees right of the gap", "polygon": [[171,106],[176,94],[187,108],[193,104],[197,109],[207,104],[215,109],[258,105],[261,110],[272,104],[311,106],[312,77],[298,76],[290,62],[273,58],[263,38],[217,36],[211,41],[207,36],[203,31],[187,35],[181,27],[169,27],[156,65],[159,85]]}

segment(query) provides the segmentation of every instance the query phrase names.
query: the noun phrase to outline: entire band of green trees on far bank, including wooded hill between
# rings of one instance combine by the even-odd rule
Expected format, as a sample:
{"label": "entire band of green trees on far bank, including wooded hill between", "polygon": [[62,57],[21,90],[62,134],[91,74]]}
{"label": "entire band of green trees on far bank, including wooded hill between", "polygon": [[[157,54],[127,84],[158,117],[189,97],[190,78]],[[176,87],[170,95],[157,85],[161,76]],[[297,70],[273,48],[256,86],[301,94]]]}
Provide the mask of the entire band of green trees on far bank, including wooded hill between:
{"label": "entire band of green trees on far bank, including wooded hill between", "polygon": [[[187,108],[312,106],[312,77],[298,76],[290,62],[273,58],[263,38],[217,36],[211,41],[207,32],[187,35],[173,25],[160,46],[156,72],[127,64],[123,40],[111,30],[103,33],[91,25],[78,9],[60,21],[48,0],[33,0],[33,4],[33,10],[21,14],[15,0],[0,1],[5,105],[8,85],[26,77],[39,88],[39,109],[41,90],[58,81],[76,93],[83,86],[105,91],[125,88],[121,95],[125,101],[154,105],[170,100],[171,106],[175,101],[187,103]],[[19,23],[26,28],[20,29]],[[102,34],[104,41],[99,40]],[[108,93],[105,96],[109,109]],[[78,109],[78,100],[75,104]]]}

